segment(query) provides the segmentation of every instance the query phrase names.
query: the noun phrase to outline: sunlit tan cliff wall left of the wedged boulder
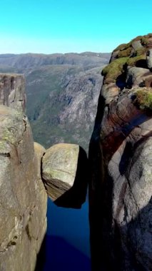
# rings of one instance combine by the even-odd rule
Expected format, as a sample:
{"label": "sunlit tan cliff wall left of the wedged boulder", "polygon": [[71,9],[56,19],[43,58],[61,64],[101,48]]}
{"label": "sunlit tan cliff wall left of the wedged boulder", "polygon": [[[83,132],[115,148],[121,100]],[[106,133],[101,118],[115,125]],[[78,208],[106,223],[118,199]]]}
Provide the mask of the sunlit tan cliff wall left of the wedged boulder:
{"label": "sunlit tan cliff wall left of the wedged boulder", "polygon": [[34,270],[46,232],[41,158],[24,115],[24,77],[0,74],[0,270]]}

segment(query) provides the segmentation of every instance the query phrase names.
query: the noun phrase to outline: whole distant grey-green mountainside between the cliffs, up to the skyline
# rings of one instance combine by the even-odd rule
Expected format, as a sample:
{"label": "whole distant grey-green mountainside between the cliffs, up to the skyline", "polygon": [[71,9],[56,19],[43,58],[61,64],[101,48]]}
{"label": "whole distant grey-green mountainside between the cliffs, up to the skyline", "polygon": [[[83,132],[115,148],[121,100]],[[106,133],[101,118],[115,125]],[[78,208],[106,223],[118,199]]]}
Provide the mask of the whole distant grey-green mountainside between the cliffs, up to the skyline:
{"label": "whole distant grey-green mountainside between the cliffs, up to the skyline", "polygon": [[58,142],[88,148],[110,53],[26,53],[0,55],[0,72],[26,76],[27,115],[34,140],[46,148]]}

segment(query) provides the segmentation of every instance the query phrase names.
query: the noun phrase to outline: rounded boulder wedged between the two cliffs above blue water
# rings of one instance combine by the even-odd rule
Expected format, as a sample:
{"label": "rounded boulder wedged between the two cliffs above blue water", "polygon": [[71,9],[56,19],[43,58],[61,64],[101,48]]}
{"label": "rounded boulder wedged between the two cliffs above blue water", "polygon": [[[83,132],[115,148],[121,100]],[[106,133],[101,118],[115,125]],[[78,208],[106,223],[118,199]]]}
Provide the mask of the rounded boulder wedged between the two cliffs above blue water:
{"label": "rounded boulder wedged between the two cliffs above blue water", "polygon": [[76,144],[60,143],[46,150],[42,177],[47,193],[56,205],[80,208],[86,199],[86,153]]}

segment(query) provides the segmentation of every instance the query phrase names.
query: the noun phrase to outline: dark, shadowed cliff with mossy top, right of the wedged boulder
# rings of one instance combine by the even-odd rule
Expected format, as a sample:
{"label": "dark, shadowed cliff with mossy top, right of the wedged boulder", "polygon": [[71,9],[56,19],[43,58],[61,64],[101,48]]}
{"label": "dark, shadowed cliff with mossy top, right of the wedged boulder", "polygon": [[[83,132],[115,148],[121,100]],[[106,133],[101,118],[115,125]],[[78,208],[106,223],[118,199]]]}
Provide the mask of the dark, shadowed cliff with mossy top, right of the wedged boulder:
{"label": "dark, shadowed cliff with mossy top, right of the wedged boulder", "polygon": [[93,270],[151,270],[152,34],[116,48],[90,143]]}

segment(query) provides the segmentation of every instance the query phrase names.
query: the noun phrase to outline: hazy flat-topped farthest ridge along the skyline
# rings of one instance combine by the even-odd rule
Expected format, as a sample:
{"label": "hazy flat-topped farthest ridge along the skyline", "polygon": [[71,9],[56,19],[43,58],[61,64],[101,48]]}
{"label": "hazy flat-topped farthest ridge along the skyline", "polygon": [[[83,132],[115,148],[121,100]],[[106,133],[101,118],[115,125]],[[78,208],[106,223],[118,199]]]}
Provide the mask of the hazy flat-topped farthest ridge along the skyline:
{"label": "hazy flat-topped farthest ridge along the skyline", "polygon": [[24,54],[2,54],[0,65],[13,66],[14,68],[34,68],[44,65],[78,65],[96,66],[107,63],[108,53],[24,53]]}

